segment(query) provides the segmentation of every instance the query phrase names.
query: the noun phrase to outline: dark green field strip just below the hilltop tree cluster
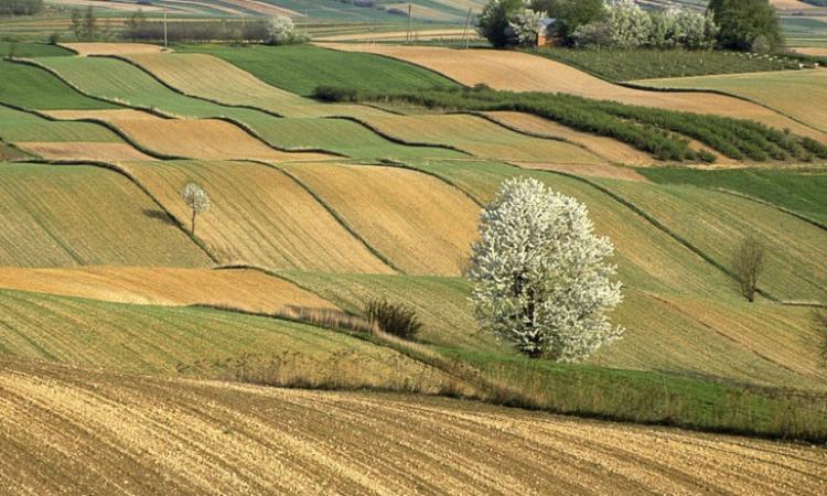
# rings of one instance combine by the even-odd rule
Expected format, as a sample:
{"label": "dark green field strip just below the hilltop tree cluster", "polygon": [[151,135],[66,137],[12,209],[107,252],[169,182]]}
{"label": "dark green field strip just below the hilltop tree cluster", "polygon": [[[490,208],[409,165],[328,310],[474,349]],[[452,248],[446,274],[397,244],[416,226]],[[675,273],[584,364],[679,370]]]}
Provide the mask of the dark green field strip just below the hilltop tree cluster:
{"label": "dark green field strip just below the hilltop tree cluster", "polygon": [[740,52],[687,50],[577,50],[530,51],[614,82],[710,74],[760,73],[797,69],[797,57],[760,57]]}

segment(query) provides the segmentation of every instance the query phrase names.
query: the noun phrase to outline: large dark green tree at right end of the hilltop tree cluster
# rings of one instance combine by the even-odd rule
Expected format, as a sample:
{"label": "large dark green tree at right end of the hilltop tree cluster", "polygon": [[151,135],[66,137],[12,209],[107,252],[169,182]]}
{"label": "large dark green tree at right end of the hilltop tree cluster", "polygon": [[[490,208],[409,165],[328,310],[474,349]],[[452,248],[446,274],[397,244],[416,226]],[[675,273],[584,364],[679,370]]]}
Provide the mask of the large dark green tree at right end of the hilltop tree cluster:
{"label": "large dark green tree at right end of the hilltop tree cluster", "polygon": [[720,26],[720,48],[763,52],[784,46],[781,23],[769,0],[710,0],[708,8]]}

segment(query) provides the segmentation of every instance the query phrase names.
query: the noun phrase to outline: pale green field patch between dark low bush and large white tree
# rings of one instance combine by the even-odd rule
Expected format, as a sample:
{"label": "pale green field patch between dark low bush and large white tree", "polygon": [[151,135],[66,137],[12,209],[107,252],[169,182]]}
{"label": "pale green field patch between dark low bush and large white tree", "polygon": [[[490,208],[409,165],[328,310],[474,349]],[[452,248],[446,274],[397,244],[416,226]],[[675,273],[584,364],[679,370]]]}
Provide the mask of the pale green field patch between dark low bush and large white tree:
{"label": "pale green field patch between dark low bush and large white tree", "polygon": [[377,299],[412,306],[423,324],[420,337],[428,343],[486,352],[506,349],[477,328],[469,300],[471,283],[464,278],[321,272],[280,276],[355,314],[363,314],[365,304]]}

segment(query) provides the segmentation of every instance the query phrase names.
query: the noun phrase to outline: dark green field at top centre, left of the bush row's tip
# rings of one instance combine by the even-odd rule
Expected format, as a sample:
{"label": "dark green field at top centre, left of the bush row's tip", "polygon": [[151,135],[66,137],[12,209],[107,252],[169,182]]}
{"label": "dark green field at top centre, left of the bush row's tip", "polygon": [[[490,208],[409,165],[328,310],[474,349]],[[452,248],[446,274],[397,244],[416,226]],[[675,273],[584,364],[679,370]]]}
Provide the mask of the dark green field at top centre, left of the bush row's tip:
{"label": "dark green field at top centre, left of the bush row's tip", "polygon": [[442,75],[405,62],[363,53],[333,52],[313,45],[186,45],[176,50],[224,58],[269,85],[299,95],[311,95],[320,85],[366,90],[459,86]]}

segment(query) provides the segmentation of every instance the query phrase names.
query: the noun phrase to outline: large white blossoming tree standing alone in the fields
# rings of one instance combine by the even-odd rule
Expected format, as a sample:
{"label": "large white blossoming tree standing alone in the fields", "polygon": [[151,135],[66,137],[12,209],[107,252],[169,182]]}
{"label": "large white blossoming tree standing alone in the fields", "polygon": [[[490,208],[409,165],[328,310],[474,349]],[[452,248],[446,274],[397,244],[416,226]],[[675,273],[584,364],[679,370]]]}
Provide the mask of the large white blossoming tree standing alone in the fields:
{"label": "large white blossoming tree standing alone in the fields", "polygon": [[586,205],[535,179],[512,179],[482,213],[471,295],[484,330],[529,357],[584,359],[623,330],[606,313],[621,300],[611,241]]}

